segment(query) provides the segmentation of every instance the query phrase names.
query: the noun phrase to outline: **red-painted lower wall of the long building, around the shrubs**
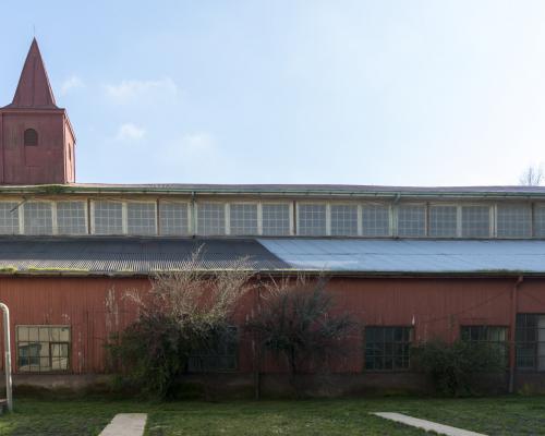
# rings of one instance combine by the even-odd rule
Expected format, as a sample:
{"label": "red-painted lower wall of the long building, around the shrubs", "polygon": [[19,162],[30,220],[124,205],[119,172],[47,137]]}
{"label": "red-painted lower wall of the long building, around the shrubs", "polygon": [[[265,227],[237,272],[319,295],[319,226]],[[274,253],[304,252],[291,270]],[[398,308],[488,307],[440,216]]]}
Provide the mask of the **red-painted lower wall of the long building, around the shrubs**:
{"label": "red-painted lower wall of the long building, around the shrubs", "polygon": [[[511,324],[516,278],[336,278],[329,282],[337,310],[360,322],[348,341],[349,353],[336,363],[340,373],[363,371],[364,326],[414,326],[415,340],[441,337],[452,340],[461,325]],[[15,326],[69,325],[72,328],[71,373],[105,372],[104,344],[108,336],[126,326],[136,310],[122,295],[146,290],[146,278],[1,277],[0,301],[8,304],[12,323],[12,353],[16,362]],[[246,295],[238,312],[243,323],[258,301]],[[519,313],[545,313],[545,279],[525,279],[518,287]],[[254,370],[252,338],[243,335],[239,371]],[[267,359],[262,372],[282,372]],[[28,379],[27,376],[26,379]]]}

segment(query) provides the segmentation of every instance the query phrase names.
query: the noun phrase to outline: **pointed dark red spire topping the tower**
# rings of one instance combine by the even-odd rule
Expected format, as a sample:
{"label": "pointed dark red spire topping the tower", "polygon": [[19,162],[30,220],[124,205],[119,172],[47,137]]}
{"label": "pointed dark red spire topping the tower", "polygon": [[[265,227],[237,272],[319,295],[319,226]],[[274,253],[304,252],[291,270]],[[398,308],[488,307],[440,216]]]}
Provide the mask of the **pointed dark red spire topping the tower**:
{"label": "pointed dark red spire topping the tower", "polygon": [[53,92],[47,76],[46,66],[39,52],[38,41],[33,39],[25,64],[19,80],[11,108],[56,109]]}

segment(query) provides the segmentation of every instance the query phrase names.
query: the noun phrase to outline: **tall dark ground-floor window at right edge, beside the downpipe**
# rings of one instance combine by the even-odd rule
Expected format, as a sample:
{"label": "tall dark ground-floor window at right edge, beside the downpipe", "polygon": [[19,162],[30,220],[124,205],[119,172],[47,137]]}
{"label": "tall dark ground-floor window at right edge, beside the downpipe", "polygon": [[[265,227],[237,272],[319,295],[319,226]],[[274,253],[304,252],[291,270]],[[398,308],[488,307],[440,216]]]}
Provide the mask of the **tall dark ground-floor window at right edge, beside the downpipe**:
{"label": "tall dark ground-floor window at right edge, beside the downpipe", "polygon": [[545,315],[517,314],[517,367],[545,371]]}

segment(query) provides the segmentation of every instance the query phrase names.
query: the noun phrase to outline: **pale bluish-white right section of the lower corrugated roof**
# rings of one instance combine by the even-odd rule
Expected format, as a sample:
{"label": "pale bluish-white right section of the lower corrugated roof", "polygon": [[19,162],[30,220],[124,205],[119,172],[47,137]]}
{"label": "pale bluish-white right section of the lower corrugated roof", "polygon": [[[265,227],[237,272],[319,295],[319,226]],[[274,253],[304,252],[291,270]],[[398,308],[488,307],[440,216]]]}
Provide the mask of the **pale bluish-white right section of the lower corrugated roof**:
{"label": "pale bluish-white right section of the lower corrugated roof", "polygon": [[300,270],[545,274],[545,241],[259,239]]}

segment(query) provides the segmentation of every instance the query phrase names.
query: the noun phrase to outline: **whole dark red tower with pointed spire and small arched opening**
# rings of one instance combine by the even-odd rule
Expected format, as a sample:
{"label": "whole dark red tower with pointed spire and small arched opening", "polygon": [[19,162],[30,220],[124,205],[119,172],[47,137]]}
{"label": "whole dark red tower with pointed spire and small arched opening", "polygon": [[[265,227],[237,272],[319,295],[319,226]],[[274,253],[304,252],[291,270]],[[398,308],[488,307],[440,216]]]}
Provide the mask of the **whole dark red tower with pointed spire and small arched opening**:
{"label": "whole dark red tower with pointed spire and small arched opening", "polygon": [[11,105],[0,108],[0,184],[64,184],[75,180],[75,136],[55,102],[36,38]]}

